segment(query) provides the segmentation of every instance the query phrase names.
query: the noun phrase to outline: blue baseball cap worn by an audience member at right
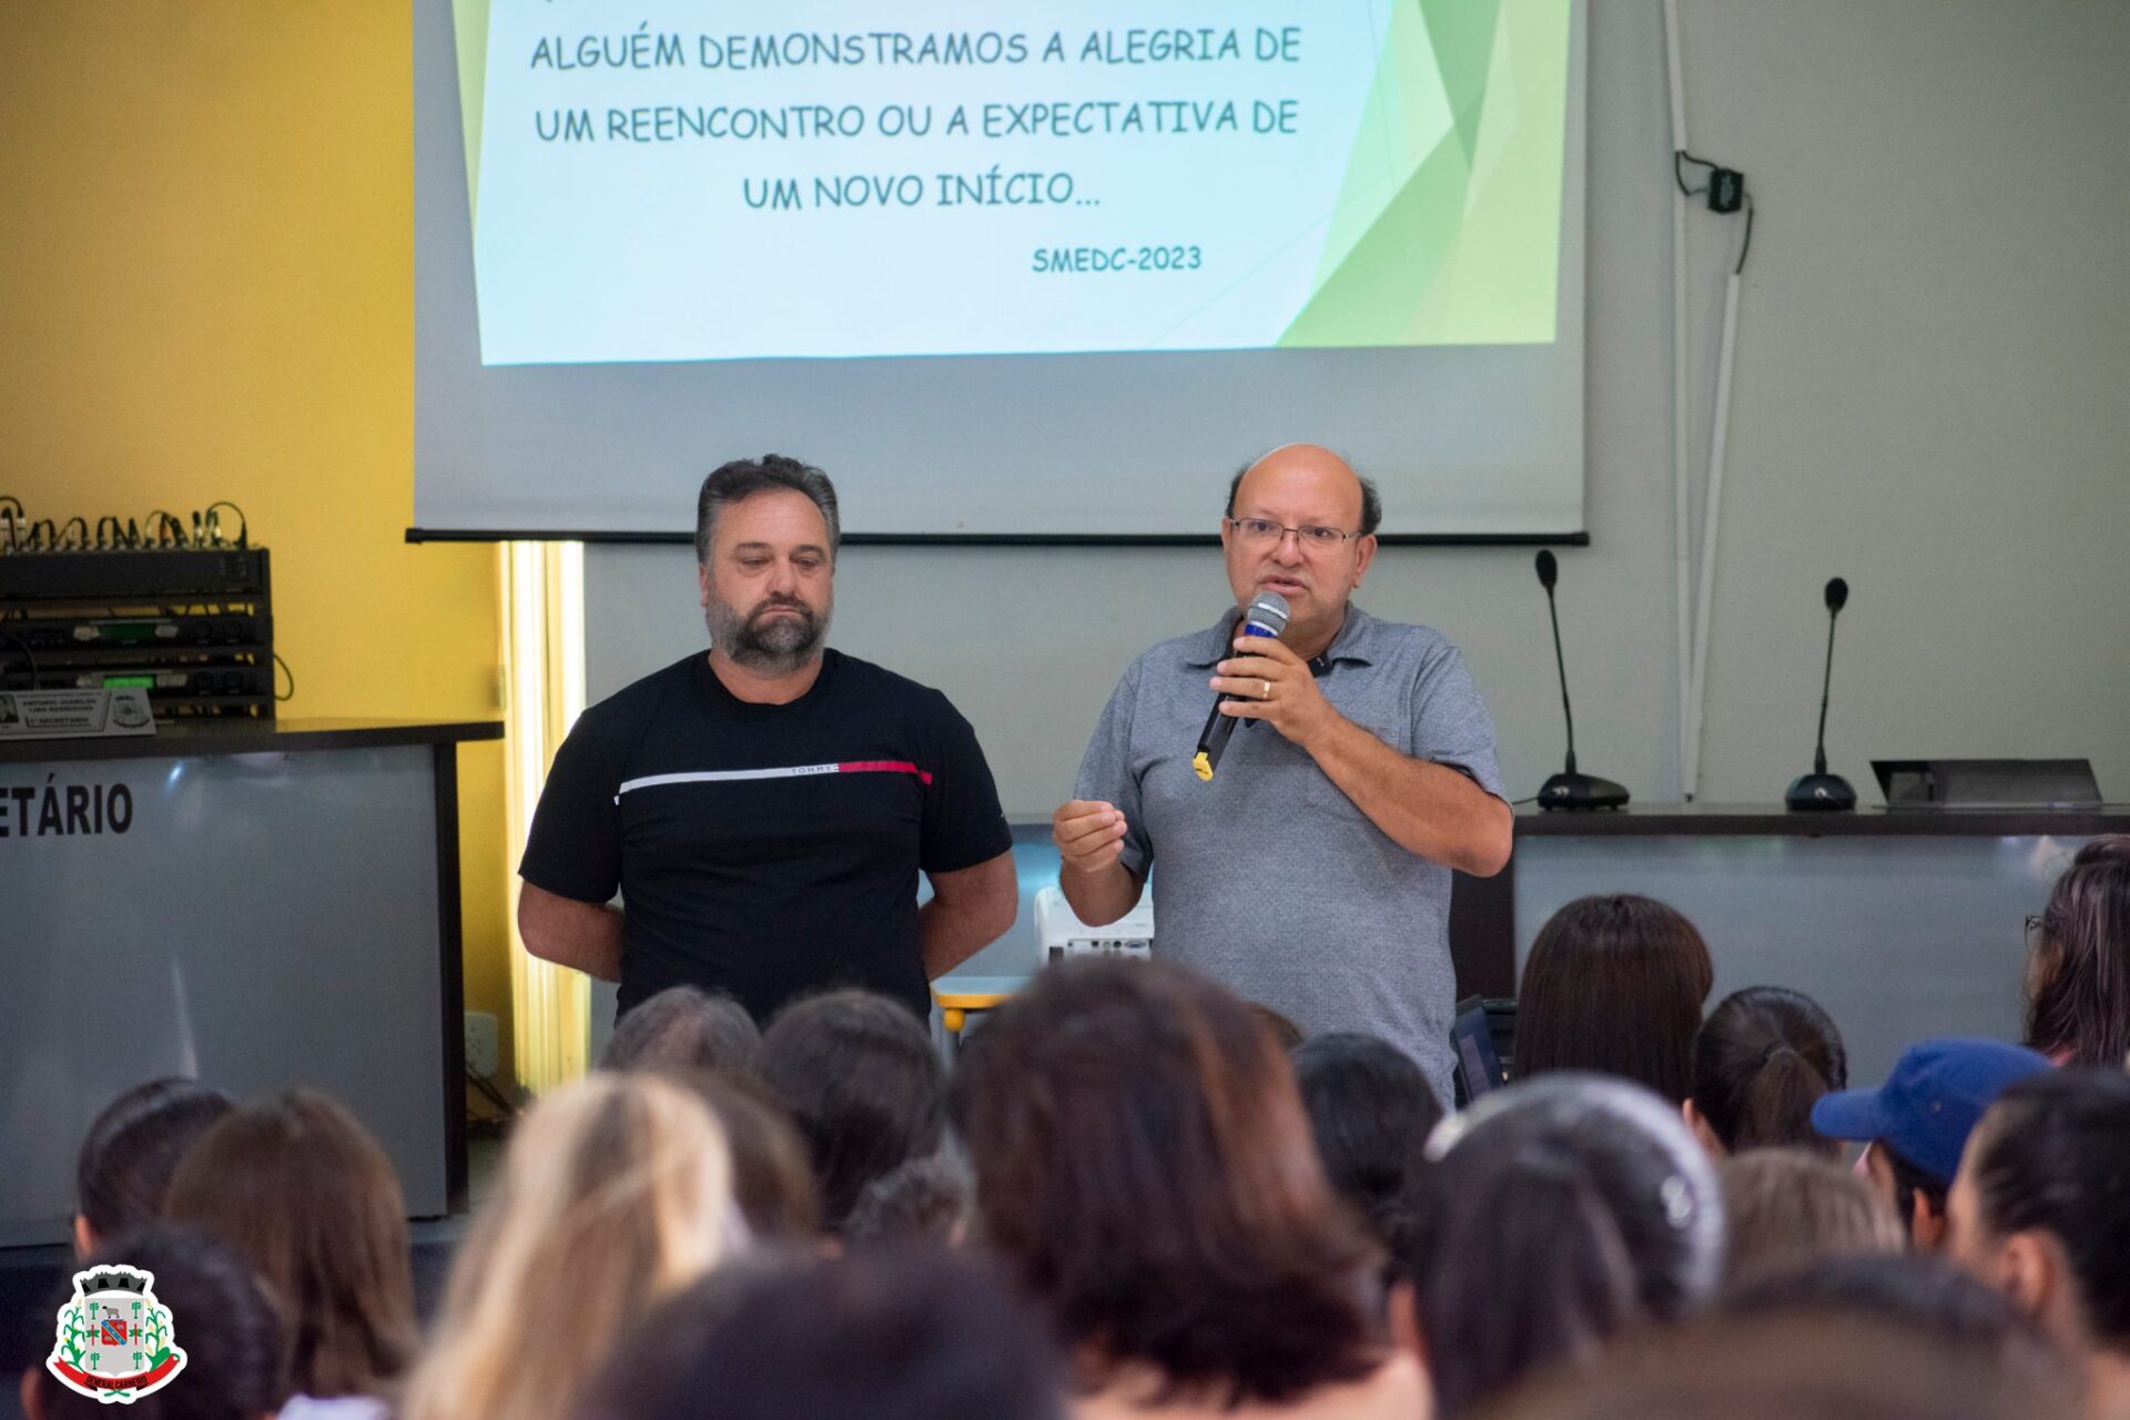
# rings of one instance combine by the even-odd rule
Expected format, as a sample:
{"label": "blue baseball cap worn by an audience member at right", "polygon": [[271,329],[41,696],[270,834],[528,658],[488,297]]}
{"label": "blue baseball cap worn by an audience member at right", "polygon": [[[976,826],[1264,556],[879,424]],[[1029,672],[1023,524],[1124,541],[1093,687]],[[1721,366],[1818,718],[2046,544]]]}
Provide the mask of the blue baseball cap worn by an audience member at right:
{"label": "blue baseball cap worn by an audience member at right", "polygon": [[1981,1039],[1917,1041],[1877,1090],[1838,1090],[1813,1105],[1828,1139],[1885,1139],[1896,1154],[1951,1184],[1968,1133],[1996,1096],[2053,1069],[2026,1045]]}

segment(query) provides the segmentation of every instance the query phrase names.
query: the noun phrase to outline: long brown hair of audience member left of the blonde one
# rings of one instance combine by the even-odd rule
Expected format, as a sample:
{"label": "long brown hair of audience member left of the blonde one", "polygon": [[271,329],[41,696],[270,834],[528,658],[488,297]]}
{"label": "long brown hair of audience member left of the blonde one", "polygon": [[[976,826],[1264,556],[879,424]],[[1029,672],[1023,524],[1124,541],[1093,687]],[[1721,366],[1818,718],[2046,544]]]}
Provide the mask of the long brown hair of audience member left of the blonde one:
{"label": "long brown hair of audience member left of the blonde one", "polygon": [[392,1160],[332,1099],[290,1090],[222,1116],[179,1162],[164,1216],[251,1262],[298,1394],[386,1394],[413,1363],[407,1203]]}

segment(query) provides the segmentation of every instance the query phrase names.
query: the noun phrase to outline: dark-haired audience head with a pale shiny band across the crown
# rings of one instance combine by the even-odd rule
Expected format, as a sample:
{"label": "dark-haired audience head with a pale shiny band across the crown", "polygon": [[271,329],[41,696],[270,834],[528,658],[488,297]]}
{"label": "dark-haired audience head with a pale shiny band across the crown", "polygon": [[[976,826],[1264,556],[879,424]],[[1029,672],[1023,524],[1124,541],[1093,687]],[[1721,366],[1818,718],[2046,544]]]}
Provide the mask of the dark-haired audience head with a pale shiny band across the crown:
{"label": "dark-haired audience head with a pale shiny band across the crown", "polygon": [[1561,1071],[1427,1139],[1397,1271],[1412,1279],[1436,1405],[1457,1416],[1715,1288],[1723,1201],[1674,1105]]}

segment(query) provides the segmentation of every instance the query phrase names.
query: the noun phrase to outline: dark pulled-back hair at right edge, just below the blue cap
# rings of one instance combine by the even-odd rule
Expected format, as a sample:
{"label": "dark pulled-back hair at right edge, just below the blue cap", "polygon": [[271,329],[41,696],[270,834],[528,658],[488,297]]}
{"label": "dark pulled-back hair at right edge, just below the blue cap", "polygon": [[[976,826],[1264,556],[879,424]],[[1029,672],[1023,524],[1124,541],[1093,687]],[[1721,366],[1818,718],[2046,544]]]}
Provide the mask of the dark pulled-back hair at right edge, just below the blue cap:
{"label": "dark pulled-back hair at right edge, just below the blue cap", "polygon": [[1983,1228],[2053,1237],[2094,1339],[2130,1348],[2130,1075],[2021,1079],[1979,1130],[1970,1167]]}

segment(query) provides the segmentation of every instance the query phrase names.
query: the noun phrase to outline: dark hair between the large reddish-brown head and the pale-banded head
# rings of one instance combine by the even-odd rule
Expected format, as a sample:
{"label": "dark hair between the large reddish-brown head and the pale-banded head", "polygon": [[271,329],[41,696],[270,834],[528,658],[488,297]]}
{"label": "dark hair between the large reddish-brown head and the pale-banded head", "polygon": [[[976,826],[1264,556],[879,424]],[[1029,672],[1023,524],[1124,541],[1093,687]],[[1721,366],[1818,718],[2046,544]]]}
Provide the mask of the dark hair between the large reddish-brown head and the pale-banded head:
{"label": "dark hair between the large reddish-brown head and the pale-banded head", "polygon": [[1353,1030],[1318,1035],[1289,1060],[1331,1188],[1378,1222],[1442,1118],[1427,1075],[1389,1041]]}

